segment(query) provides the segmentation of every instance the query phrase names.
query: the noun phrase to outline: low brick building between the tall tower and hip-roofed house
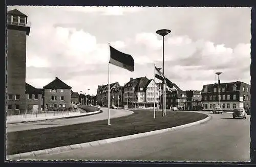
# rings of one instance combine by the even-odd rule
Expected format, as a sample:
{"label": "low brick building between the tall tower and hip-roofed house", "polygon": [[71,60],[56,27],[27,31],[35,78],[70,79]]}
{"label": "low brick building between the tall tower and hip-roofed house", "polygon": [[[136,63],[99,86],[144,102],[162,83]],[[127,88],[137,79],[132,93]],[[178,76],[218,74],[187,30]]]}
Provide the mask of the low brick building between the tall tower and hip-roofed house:
{"label": "low brick building between the tall tower and hip-roofed house", "polygon": [[44,102],[42,100],[43,92],[43,89],[37,89],[26,83],[26,113],[41,112],[41,108],[44,106]]}

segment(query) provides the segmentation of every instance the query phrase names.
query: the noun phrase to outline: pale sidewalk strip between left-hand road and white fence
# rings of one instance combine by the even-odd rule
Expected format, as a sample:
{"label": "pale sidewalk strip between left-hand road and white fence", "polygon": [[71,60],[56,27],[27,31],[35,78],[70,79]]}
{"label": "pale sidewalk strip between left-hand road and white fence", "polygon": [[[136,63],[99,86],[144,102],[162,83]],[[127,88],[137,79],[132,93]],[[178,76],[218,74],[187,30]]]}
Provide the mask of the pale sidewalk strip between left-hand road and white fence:
{"label": "pale sidewalk strip between left-hand road and white fence", "polygon": [[68,118],[68,117],[77,117],[77,116],[83,116],[83,115],[91,115],[95,113],[99,113],[100,110],[94,111],[94,112],[70,112],[68,115],[49,115],[45,116],[45,114],[40,114],[38,117],[28,117],[28,118],[12,118],[11,120],[7,120],[6,124],[17,124],[17,123],[24,123],[24,122],[34,122],[34,121],[45,121],[45,120],[55,120],[59,118]]}

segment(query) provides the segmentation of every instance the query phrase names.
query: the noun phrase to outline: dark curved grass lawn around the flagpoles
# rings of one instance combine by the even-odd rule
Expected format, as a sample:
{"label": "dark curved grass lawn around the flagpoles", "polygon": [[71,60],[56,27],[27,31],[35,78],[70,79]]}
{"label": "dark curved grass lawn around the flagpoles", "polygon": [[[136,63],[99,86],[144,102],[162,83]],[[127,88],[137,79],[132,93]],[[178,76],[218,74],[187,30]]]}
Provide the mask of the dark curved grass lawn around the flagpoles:
{"label": "dark curved grass lawn around the flagpoles", "polygon": [[7,133],[6,154],[18,154],[132,135],[184,125],[207,117],[206,114],[183,111],[166,112],[166,116],[162,117],[161,112],[156,111],[156,119],[154,119],[153,111],[133,111],[134,114],[111,119],[110,126],[107,125],[107,120],[103,120]]}

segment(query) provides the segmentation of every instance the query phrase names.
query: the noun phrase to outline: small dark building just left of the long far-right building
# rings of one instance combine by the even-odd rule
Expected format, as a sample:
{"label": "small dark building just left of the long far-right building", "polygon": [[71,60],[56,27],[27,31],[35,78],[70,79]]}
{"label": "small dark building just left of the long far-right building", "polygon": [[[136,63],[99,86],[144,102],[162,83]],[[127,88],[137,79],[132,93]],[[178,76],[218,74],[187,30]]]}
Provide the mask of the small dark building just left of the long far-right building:
{"label": "small dark building just left of the long far-right building", "polygon": [[187,100],[185,110],[200,110],[201,109],[201,91],[200,90],[186,90]]}

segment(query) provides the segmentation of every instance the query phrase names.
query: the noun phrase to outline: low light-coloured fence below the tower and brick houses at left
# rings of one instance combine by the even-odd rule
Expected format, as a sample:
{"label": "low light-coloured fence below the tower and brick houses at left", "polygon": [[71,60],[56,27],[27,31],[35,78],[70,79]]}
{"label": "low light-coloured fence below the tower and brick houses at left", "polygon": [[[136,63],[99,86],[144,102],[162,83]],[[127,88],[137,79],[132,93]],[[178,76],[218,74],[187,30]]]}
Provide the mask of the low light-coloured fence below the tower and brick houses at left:
{"label": "low light-coloured fence below the tower and brick houses at left", "polygon": [[26,112],[22,110],[8,110],[6,119],[7,121],[14,119],[26,119],[26,118],[37,118],[37,117],[50,117],[50,116],[60,116],[69,115],[77,113],[76,109],[73,110],[54,110],[54,111],[37,111],[37,112]]}

